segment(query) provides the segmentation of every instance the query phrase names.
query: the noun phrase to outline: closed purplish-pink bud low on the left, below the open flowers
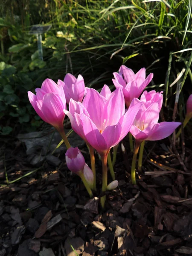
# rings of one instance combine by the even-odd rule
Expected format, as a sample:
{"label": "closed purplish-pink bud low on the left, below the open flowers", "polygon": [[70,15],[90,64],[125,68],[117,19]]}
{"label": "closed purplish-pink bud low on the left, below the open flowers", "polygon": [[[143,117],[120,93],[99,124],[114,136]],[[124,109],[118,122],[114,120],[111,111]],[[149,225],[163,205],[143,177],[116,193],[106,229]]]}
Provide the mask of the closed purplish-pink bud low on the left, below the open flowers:
{"label": "closed purplish-pink bud low on the left, below the open flowers", "polygon": [[76,148],[68,148],[65,154],[65,160],[67,163],[67,167],[71,172],[79,172],[84,169],[84,156],[81,154],[81,151],[78,147]]}

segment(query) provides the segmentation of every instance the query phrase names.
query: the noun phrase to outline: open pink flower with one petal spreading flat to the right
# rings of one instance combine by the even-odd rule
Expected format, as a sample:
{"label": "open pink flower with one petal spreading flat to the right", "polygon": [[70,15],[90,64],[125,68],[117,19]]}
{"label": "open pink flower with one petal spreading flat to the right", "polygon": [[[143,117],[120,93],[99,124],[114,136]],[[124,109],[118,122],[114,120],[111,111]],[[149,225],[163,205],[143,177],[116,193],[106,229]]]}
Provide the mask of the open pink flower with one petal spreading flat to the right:
{"label": "open pink flower with one petal spreading flat to the right", "polygon": [[[139,99],[133,99],[130,108],[139,102],[141,102]],[[130,129],[136,140],[162,140],[171,135],[181,125],[180,122],[158,123],[159,113],[159,102],[154,102],[148,107],[143,104]]]}

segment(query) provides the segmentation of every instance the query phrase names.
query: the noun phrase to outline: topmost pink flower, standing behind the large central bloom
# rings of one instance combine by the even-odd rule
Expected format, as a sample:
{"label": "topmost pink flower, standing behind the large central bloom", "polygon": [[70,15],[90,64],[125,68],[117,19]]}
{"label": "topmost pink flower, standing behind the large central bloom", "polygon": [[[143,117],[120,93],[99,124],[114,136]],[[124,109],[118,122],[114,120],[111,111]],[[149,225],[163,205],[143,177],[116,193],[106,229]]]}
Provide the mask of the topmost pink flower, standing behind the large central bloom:
{"label": "topmost pink flower, standing behind the large central bloom", "polygon": [[151,82],[153,73],[150,73],[145,79],[144,67],[135,74],[133,70],[122,65],[119,69],[119,73],[115,72],[113,76],[113,84],[116,88],[122,88],[125,97],[125,105],[128,108],[132,99],[138,98],[145,87]]}

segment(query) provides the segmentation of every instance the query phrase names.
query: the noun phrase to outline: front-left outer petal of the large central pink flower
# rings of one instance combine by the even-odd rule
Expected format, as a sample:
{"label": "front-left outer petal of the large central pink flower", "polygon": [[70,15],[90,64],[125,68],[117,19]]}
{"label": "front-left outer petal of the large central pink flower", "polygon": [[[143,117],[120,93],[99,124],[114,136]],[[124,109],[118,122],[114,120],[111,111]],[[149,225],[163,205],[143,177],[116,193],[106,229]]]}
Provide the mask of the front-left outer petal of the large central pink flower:
{"label": "front-left outer petal of the large central pink flower", "polygon": [[81,114],[81,124],[88,143],[101,154],[107,151],[107,143],[92,120],[84,114]]}

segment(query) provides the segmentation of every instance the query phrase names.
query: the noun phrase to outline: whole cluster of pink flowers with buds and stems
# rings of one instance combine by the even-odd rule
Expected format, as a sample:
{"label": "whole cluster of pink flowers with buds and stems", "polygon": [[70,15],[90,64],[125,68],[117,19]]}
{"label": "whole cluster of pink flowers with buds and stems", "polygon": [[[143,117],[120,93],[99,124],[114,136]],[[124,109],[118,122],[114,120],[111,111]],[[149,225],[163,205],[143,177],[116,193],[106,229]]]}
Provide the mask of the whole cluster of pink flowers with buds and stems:
{"label": "whole cluster of pink flowers with buds and stems", "polygon": [[[105,191],[115,189],[115,180],[111,161],[118,143],[129,133],[135,138],[135,150],[132,162],[131,177],[135,180],[135,163],[140,145],[145,140],[161,140],[168,137],[181,124],[180,122],[158,122],[163,104],[163,92],[144,91],[151,82],[153,74],[146,78],[145,68],[136,74],[122,65],[119,73],[113,73],[112,79],[116,89],[111,92],[105,84],[101,92],[85,87],[81,75],[76,78],[68,73],[64,81],[57,84],[46,79],[36,95],[28,92],[29,101],[38,115],[55,127],[67,146],[66,163],[71,172],[79,175],[90,196],[96,190],[96,168],[94,150],[102,160],[103,183],[101,205],[105,206]],[[141,95],[141,93],[143,93]],[[140,97],[140,99],[138,99]],[[67,107],[68,104],[68,107]],[[125,105],[128,108],[125,110]],[[188,102],[188,116],[192,116],[191,101]],[[67,110],[68,109],[68,110]],[[90,167],[85,163],[79,148],[72,148],[64,133],[64,117],[70,119],[72,129],[85,141],[90,152]],[[113,160],[114,160],[113,159]],[[108,184],[108,166],[113,182]]]}

